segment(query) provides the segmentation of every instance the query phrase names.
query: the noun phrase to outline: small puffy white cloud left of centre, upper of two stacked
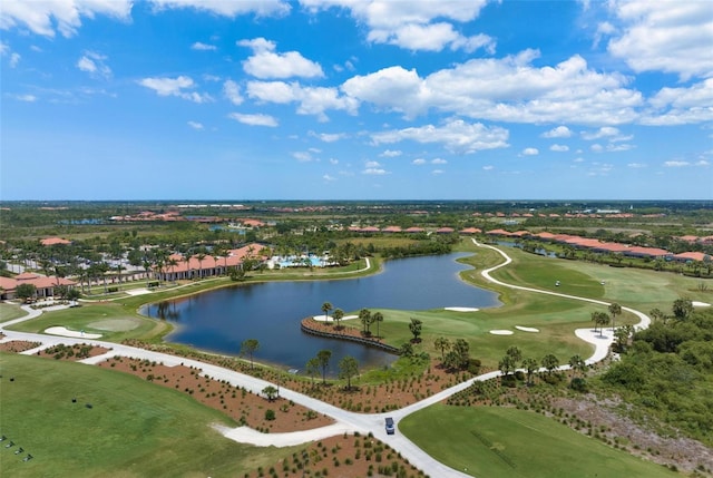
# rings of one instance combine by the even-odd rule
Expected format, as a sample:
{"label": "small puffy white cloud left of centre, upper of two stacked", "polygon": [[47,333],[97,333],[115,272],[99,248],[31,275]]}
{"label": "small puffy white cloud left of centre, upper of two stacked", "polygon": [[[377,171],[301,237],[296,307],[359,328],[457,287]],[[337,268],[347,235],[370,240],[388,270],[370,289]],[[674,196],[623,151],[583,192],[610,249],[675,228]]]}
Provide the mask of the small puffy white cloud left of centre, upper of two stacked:
{"label": "small puffy white cloud left of centre, upper of two stacked", "polygon": [[276,53],[275,43],[264,38],[240,40],[237,45],[253,49],[253,56],[243,61],[243,69],[256,78],[324,77],[319,64],[307,60],[299,51]]}

